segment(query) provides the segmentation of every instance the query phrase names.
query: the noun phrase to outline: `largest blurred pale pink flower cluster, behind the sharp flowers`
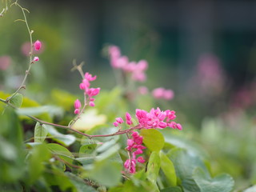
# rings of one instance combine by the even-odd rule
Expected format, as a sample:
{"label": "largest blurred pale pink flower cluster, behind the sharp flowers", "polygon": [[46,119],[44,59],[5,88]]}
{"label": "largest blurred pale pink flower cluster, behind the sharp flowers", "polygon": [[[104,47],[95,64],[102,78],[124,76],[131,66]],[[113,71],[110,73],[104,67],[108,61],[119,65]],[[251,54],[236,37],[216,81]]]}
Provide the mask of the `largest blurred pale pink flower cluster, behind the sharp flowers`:
{"label": "largest blurred pale pink flower cluster, behind the sharp flowers", "polygon": [[131,74],[131,78],[134,81],[145,82],[148,63],[145,60],[139,62],[129,62],[126,56],[121,55],[121,51],[118,46],[109,47],[110,64],[115,69],[121,69],[126,74]]}

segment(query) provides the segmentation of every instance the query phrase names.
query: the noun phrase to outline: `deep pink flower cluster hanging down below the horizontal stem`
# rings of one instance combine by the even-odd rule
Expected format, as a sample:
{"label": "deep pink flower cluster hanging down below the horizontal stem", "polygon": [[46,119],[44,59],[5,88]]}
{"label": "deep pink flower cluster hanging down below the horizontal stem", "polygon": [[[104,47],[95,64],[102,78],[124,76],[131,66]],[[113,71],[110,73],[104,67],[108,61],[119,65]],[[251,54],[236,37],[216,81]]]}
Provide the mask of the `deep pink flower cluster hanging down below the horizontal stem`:
{"label": "deep pink flower cluster hanging down below the horizontal stem", "polygon": [[137,158],[138,154],[142,154],[146,146],[142,146],[143,138],[138,134],[138,132],[133,131],[131,134],[132,138],[127,139],[127,147],[131,154],[131,157],[126,160],[124,163],[124,167],[130,174],[134,174],[136,172],[136,162],[144,163],[145,160],[142,156]]}

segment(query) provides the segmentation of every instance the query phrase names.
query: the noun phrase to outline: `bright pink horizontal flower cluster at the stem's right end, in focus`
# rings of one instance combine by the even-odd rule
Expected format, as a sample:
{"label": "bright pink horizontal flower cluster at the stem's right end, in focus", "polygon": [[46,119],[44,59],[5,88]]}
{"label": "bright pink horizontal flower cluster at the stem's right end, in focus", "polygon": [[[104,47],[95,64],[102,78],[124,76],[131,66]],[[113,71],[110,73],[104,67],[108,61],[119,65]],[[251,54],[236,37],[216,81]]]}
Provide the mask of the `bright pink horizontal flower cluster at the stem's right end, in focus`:
{"label": "bright pink horizontal flower cluster at the stem's right end, in focus", "polygon": [[174,110],[162,111],[159,108],[157,108],[156,110],[152,108],[148,113],[146,112],[146,110],[137,109],[136,118],[138,118],[138,123],[141,128],[164,129],[166,127],[171,127],[173,129],[182,130],[181,124],[172,121],[176,118]]}

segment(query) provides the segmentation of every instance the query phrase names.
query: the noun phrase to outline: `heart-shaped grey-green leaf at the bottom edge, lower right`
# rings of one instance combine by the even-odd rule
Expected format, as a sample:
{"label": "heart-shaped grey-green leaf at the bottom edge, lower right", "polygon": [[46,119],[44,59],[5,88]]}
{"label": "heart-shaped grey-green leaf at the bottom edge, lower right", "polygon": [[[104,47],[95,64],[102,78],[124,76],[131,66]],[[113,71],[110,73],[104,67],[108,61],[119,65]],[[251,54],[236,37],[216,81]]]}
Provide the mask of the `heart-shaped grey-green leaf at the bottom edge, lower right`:
{"label": "heart-shaped grey-green leaf at the bottom edge, lower right", "polygon": [[210,175],[202,168],[197,167],[193,177],[201,192],[230,192],[234,187],[234,180],[229,174],[220,174],[215,178],[210,178]]}

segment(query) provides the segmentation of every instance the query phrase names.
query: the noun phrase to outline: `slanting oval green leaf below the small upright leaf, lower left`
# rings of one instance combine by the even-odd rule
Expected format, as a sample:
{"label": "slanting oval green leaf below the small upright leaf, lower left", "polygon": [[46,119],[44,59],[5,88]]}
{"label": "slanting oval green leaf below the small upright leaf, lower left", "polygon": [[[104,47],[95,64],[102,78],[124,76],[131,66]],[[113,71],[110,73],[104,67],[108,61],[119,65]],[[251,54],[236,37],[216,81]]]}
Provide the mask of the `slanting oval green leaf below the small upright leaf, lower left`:
{"label": "slanting oval green leaf below the small upright leaf, lower left", "polygon": [[64,146],[58,145],[56,143],[49,143],[46,145],[53,154],[58,155],[59,158],[67,162],[68,164],[73,164],[74,155],[71,154]]}

